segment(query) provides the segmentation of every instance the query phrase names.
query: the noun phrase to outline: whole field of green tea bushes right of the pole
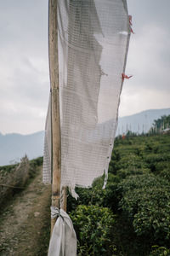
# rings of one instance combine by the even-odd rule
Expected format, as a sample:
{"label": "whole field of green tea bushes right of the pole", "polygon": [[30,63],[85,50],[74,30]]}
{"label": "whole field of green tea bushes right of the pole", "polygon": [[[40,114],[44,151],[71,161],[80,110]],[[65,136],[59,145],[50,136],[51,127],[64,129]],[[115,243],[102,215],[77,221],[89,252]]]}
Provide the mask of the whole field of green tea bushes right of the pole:
{"label": "whole field of green tea bushes right of the pole", "polygon": [[106,189],[77,188],[78,255],[170,255],[170,136],[116,138]]}

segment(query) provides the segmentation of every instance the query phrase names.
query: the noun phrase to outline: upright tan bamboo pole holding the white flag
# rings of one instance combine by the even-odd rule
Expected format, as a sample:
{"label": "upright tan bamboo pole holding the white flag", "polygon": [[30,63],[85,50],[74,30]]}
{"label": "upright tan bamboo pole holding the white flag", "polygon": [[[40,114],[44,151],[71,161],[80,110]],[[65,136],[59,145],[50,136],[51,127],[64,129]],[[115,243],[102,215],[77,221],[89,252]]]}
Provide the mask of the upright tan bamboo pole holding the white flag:
{"label": "upright tan bamboo pole holding the white flag", "polygon": [[[59,207],[61,179],[61,141],[59,119],[59,56],[57,0],[49,0],[48,8],[49,73],[52,99],[52,206]],[[55,221],[56,219],[51,219],[51,234],[54,229]]]}

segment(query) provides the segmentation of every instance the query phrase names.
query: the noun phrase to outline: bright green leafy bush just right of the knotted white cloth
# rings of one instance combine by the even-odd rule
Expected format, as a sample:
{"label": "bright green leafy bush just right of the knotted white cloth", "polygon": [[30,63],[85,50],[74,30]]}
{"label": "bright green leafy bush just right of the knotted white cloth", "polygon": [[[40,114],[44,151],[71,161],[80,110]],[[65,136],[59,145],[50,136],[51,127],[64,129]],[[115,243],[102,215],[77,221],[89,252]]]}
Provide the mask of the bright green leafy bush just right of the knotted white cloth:
{"label": "bright green leafy bush just right of the knotted white cloth", "polygon": [[116,247],[111,241],[115,218],[110,209],[97,206],[77,207],[71,212],[78,240],[78,255],[113,255]]}

